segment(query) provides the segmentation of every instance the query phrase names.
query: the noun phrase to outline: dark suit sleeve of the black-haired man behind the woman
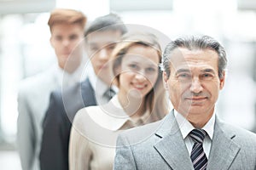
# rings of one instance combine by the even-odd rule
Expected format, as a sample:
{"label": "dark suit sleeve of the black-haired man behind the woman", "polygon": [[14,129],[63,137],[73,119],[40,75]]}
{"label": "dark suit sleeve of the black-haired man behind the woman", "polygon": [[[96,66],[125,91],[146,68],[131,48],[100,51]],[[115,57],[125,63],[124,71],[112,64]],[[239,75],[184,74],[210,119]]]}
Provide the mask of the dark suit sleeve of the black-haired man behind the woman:
{"label": "dark suit sleeve of the black-haired man behind the woman", "polygon": [[50,95],[49,108],[43,122],[39,156],[41,170],[68,170],[70,127],[61,92],[54,92]]}

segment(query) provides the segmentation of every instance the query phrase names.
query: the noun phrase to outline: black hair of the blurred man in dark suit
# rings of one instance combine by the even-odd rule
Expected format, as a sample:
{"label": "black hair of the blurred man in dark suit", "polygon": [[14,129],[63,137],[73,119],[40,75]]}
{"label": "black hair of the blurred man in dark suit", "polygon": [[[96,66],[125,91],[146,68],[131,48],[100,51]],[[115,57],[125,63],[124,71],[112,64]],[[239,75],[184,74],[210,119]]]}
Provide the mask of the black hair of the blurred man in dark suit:
{"label": "black hair of the blurred man in dark suit", "polygon": [[127,29],[117,14],[107,14],[92,21],[84,32],[84,37],[94,31],[120,31],[125,34]]}

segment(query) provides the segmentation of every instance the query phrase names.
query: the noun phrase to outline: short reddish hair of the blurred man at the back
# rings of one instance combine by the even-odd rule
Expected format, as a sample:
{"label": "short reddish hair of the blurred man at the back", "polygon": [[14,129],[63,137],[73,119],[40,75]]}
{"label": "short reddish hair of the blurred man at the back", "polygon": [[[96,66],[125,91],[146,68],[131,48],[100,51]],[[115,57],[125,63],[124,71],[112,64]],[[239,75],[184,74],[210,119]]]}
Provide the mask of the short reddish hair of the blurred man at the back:
{"label": "short reddish hair of the blurred man at the back", "polygon": [[84,30],[86,21],[87,18],[82,12],[74,9],[55,8],[49,16],[48,26],[51,31],[55,24],[79,24]]}

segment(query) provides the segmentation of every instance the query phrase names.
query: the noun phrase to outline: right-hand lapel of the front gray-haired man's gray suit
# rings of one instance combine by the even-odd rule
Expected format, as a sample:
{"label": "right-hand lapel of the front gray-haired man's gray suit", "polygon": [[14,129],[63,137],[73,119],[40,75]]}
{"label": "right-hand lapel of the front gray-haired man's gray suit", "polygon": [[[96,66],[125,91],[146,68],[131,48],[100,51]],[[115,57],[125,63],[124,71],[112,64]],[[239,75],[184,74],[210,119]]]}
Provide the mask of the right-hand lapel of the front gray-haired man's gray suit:
{"label": "right-hand lapel of the front gray-haired man's gray suit", "polygon": [[207,169],[229,169],[240,150],[240,146],[232,141],[235,136],[236,134],[224,128],[216,117]]}

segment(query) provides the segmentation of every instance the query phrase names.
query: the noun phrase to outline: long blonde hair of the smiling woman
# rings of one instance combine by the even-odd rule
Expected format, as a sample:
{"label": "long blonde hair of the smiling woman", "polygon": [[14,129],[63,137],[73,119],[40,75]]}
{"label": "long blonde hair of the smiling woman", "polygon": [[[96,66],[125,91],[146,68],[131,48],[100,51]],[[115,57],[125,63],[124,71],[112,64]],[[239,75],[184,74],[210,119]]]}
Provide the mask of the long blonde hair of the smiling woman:
{"label": "long blonde hair of the smiling woman", "polygon": [[[159,62],[161,62],[161,48],[157,40],[157,37],[154,34],[150,33],[128,33],[125,34],[117,46],[113,49],[111,59],[113,61],[112,71],[114,76],[115,84],[119,87],[119,67],[121,65],[124,55],[127,53],[129,48],[134,45],[142,45],[148,48],[154,48],[157,51]],[[159,63],[160,65],[160,63]],[[158,77],[154,83],[154,87],[148,92],[145,96],[145,106],[148,111],[157,120],[162,118],[167,113],[167,100],[166,100],[166,91],[163,85],[162,71],[160,67],[158,69]]]}

